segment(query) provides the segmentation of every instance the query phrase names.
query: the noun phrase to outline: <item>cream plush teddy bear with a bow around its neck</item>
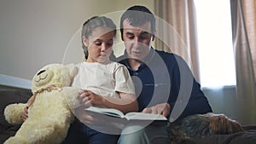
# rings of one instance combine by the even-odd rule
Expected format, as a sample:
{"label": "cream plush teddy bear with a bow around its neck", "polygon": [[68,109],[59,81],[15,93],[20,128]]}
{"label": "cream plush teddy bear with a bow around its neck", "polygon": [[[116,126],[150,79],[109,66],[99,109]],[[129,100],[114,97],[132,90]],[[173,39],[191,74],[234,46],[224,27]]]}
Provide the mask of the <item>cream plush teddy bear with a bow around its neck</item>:
{"label": "cream plush teddy bear with a bow around its neck", "polygon": [[26,104],[10,104],[4,109],[10,124],[22,124],[24,108],[29,107],[28,118],[20,130],[4,144],[61,143],[74,118],[66,98],[78,102],[76,95],[80,92],[79,89],[69,89],[66,94],[63,88],[71,88],[69,86],[76,74],[77,68],[73,64],[50,64],[39,70],[32,79],[33,95],[29,101]]}

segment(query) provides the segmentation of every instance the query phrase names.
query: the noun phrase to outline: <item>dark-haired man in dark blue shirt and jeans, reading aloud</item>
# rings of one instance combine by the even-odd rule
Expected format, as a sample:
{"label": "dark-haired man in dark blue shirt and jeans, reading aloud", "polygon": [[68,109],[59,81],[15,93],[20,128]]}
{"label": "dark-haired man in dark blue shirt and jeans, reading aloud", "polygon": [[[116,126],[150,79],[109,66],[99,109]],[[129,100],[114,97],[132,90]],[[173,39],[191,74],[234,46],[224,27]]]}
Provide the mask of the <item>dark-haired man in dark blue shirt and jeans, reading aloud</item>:
{"label": "dark-haired man in dark blue shirt and jeans, reading aloud", "polygon": [[[158,113],[171,121],[195,113],[212,112],[201,85],[178,55],[152,48],[154,14],[144,6],[132,6],[120,20],[125,55],[118,58],[134,80],[139,112]],[[170,143],[166,127],[128,124],[119,143]]]}

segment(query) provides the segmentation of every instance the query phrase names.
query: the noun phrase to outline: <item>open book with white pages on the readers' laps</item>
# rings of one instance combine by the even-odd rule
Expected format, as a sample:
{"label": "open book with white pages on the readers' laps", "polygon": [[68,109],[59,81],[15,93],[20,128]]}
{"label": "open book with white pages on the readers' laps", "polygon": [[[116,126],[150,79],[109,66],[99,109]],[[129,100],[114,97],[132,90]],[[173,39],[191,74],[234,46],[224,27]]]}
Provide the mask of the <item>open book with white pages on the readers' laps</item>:
{"label": "open book with white pages on the readers' laps", "polygon": [[127,120],[147,120],[147,121],[168,121],[168,119],[160,114],[143,113],[143,112],[123,112],[113,108],[88,107],[85,111],[102,113],[115,118],[125,118]]}

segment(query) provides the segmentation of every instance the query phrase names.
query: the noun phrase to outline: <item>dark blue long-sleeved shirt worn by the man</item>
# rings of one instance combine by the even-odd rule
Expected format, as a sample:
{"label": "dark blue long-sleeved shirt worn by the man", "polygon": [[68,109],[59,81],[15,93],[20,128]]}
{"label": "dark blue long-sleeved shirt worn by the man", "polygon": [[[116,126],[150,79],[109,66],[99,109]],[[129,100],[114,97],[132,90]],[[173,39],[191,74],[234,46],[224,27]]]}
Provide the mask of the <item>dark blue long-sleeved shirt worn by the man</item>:
{"label": "dark blue long-sleeved shirt worn by the man", "polygon": [[134,81],[139,111],[160,103],[171,106],[171,120],[195,113],[212,112],[201,85],[195,81],[182,57],[150,49],[142,65],[135,71],[123,55],[118,58]]}

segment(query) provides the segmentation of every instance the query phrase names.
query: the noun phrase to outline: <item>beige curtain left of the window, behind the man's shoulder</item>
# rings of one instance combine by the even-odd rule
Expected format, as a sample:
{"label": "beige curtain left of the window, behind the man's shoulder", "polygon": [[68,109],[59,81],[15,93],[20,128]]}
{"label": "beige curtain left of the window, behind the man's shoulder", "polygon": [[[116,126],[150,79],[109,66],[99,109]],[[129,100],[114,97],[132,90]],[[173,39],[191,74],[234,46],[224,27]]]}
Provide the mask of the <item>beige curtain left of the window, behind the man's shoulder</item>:
{"label": "beige curtain left of the window, behind the man's shoulder", "polygon": [[193,0],[155,0],[156,49],[173,52],[189,64],[200,82],[195,4]]}

